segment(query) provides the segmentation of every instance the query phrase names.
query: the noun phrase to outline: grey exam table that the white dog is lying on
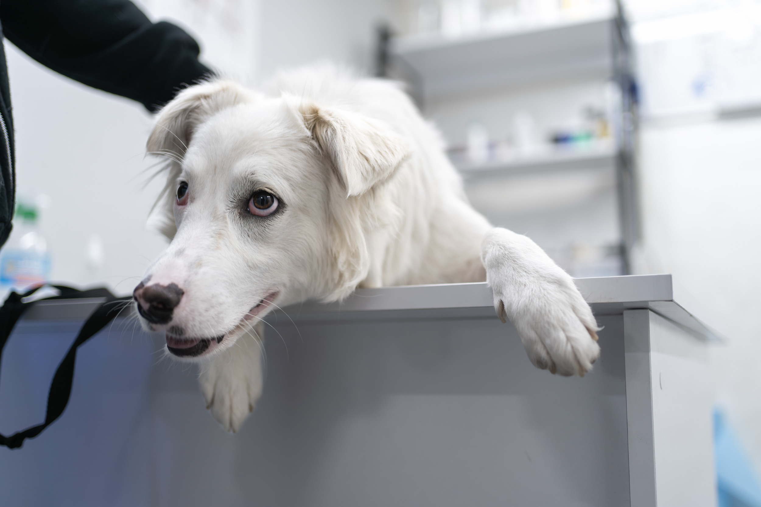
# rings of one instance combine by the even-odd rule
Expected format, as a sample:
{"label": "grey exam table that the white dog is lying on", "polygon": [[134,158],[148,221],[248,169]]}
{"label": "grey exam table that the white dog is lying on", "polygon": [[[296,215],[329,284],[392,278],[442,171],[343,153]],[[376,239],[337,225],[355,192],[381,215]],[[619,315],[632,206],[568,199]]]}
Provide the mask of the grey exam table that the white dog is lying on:
{"label": "grey exam table that the white dog is lying on", "polygon": [[[206,412],[195,366],[162,359],[161,336],[118,319],[80,348],[62,417],[0,448],[0,503],[715,505],[715,331],[670,275],[575,281],[604,326],[583,379],[531,366],[486,284],[358,290],[275,312],[264,395],[235,435]],[[95,303],[46,303],[19,322],[0,431],[44,419]]]}

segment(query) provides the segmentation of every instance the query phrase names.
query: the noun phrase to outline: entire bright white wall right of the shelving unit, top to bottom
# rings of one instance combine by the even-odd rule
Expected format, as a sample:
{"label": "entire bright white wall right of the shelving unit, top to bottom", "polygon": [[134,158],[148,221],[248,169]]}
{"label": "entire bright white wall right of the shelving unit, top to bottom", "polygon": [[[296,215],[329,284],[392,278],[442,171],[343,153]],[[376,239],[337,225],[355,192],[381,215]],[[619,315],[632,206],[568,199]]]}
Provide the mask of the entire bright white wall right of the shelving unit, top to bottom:
{"label": "entire bright white wall right of the shelving unit, top to bottom", "polygon": [[759,2],[626,4],[643,49],[638,271],[673,273],[728,338],[711,350],[715,399],[761,473],[761,118],[717,115],[758,104]]}

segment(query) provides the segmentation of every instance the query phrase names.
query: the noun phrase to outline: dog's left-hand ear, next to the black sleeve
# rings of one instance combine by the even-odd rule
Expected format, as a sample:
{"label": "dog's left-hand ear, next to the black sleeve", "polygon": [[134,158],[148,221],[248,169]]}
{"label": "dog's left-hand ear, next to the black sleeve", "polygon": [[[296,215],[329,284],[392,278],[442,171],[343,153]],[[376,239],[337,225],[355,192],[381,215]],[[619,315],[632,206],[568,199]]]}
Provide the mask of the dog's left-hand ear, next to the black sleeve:
{"label": "dog's left-hand ear, next to the black sleeve", "polygon": [[253,93],[225,80],[207,81],[180,91],[158,113],[148,137],[148,153],[182,159],[193,132],[202,122],[222,109],[253,99]]}

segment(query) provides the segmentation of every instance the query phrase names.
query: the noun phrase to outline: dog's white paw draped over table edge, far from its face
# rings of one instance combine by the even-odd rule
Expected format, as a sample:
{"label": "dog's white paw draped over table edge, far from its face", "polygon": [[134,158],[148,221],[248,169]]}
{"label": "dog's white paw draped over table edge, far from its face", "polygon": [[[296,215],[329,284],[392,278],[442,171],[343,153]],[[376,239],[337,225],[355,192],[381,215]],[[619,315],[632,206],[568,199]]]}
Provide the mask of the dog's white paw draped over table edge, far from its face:
{"label": "dog's white paw draped over table edge, far from its face", "polygon": [[572,277],[526,236],[495,228],[482,259],[494,307],[513,323],[534,366],[580,375],[600,356],[597,322]]}

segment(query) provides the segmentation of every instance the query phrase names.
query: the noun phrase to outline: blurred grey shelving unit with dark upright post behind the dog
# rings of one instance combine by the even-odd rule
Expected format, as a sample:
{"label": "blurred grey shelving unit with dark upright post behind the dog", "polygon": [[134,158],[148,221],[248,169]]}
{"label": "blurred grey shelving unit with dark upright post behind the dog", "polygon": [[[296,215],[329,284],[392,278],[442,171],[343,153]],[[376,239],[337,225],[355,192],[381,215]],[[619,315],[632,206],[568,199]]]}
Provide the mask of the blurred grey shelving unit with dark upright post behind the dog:
{"label": "blurred grey shelving unit with dark upright post behind the dog", "polygon": [[623,274],[632,271],[632,249],[640,237],[635,173],[637,125],[629,30],[620,3],[584,18],[558,17],[543,24],[457,38],[430,34],[389,36],[381,30],[377,74],[403,78],[419,105],[426,97],[478,93],[484,87],[532,81],[592,77],[613,81],[620,91],[611,128],[613,143],[589,151],[550,150],[537,154],[472,163],[452,156],[468,178],[479,174],[610,166],[616,172]]}

